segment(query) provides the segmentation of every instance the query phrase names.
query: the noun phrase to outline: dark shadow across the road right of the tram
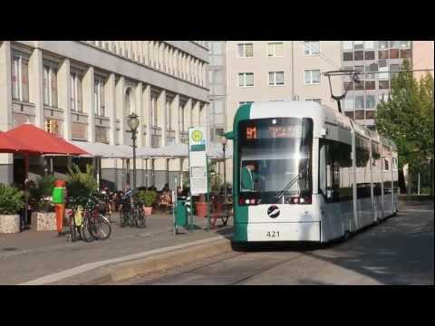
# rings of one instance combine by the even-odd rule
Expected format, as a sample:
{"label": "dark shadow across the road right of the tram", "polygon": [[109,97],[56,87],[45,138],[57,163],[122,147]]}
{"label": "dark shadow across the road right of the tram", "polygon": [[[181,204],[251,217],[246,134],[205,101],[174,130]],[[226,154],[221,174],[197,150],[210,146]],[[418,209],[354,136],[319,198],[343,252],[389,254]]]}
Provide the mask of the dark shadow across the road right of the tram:
{"label": "dark shadow across the road right of the tram", "polygon": [[399,214],[369,230],[307,255],[383,284],[433,284],[433,217]]}

